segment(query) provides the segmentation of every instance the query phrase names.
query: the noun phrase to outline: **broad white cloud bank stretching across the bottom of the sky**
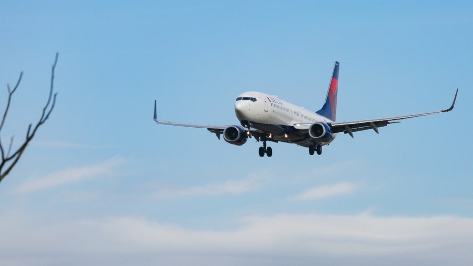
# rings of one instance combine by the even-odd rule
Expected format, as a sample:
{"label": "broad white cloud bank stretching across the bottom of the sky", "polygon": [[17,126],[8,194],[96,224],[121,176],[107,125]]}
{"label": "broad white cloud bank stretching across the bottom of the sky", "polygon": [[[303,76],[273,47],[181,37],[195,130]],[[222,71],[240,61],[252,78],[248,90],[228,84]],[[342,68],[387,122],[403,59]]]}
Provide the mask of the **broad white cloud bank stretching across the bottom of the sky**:
{"label": "broad white cloud bank stretching across the bottom of the sky", "polygon": [[77,265],[221,265],[227,258],[237,261],[233,264],[271,265],[314,264],[324,258],[321,264],[473,263],[473,219],[454,216],[278,214],[246,217],[239,228],[227,230],[139,217],[52,223],[4,218],[0,264],[22,264],[35,256],[48,264]]}

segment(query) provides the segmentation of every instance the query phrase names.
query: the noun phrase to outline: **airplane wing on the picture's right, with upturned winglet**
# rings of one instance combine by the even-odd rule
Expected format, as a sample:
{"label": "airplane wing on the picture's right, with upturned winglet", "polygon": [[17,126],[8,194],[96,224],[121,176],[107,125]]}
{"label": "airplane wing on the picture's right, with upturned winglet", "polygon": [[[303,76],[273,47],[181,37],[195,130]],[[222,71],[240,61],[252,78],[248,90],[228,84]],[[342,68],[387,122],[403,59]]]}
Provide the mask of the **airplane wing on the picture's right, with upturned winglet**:
{"label": "airplane wing on the picture's right, with upturned winglet", "polygon": [[435,113],[449,112],[453,110],[453,107],[455,106],[455,101],[457,100],[457,94],[458,94],[458,88],[457,88],[457,92],[455,93],[455,98],[453,98],[452,105],[450,106],[450,108],[445,109],[445,110],[398,115],[398,116],[384,117],[380,119],[331,122],[331,123],[328,123],[328,125],[331,127],[331,130],[333,133],[343,132],[345,134],[350,134],[352,138],[353,138],[353,132],[362,131],[362,130],[372,129],[376,133],[379,133],[378,128],[385,127],[393,123],[399,123],[400,121],[398,120],[424,116],[424,115],[430,115],[430,114],[435,114]]}

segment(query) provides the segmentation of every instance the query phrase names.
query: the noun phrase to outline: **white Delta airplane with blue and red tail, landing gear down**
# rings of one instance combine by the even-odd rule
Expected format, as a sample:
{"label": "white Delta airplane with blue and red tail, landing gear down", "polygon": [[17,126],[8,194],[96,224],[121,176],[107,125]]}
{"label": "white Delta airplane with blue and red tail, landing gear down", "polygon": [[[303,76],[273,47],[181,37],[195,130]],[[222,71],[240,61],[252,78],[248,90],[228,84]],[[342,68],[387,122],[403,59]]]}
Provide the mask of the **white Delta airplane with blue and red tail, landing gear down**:
{"label": "white Delta airplane with blue and red tail, landing gear down", "polygon": [[336,122],[339,67],[340,64],[335,62],[325,103],[316,112],[281,100],[274,95],[245,92],[240,94],[235,101],[235,114],[240,125],[204,125],[161,121],[157,119],[156,101],[154,101],[153,120],[157,124],[163,125],[206,128],[218,139],[220,139],[220,135],[223,135],[225,141],[238,146],[243,145],[248,138],[254,137],[256,141],[263,143],[259,148],[260,157],[264,157],[265,154],[271,157],[273,154],[272,148],[267,146],[267,141],[294,143],[308,147],[310,155],[314,153],[321,155],[322,146],[330,144],[337,133],[343,132],[354,138],[354,132],[372,129],[379,134],[379,128],[399,123],[399,120],[449,112],[455,106],[458,88],[452,105],[448,109],[380,119]]}

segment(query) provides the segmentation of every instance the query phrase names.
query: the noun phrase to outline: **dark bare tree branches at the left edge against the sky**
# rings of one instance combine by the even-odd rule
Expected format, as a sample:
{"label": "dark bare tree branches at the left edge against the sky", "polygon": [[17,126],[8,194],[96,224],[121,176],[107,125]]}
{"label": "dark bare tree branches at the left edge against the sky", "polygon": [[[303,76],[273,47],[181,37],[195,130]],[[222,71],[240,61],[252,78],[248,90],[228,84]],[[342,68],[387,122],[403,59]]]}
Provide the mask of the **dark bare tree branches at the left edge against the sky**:
{"label": "dark bare tree branches at the left edge against the sky", "polygon": [[[50,88],[49,88],[48,101],[46,102],[46,105],[43,108],[43,112],[41,114],[41,117],[40,117],[40,120],[38,121],[38,123],[34,127],[33,127],[32,124],[29,124],[28,130],[26,131],[25,141],[20,145],[20,147],[15,152],[13,152],[12,155],[10,155],[10,152],[11,152],[12,146],[13,146],[13,137],[10,140],[10,145],[9,145],[7,154],[5,154],[5,151],[4,151],[4,148],[3,148],[3,145],[2,145],[2,140],[0,139],[0,153],[2,154],[2,162],[0,162],[0,181],[2,181],[5,178],[5,176],[8,175],[8,173],[10,173],[10,171],[13,169],[13,167],[15,166],[15,164],[18,162],[21,155],[23,154],[24,150],[26,149],[26,146],[28,145],[29,141],[31,141],[31,139],[33,139],[33,137],[35,136],[35,133],[38,130],[38,128],[41,125],[43,125],[46,122],[46,120],[48,120],[49,115],[51,114],[52,110],[54,109],[54,105],[56,103],[57,93],[54,93],[54,95],[53,95],[53,85],[54,85],[53,81],[54,81],[54,69],[56,68],[58,56],[59,56],[59,53],[56,53],[54,64],[52,65],[52,69],[51,69],[51,85],[50,85]],[[23,76],[23,71],[20,73],[20,77],[18,78],[18,81],[16,82],[16,85],[13,88],[13,91],[10,90],[10,85],[7,84],[8,101],[7,101],[7,106],[5,108],[5,112],[4,112],[4,115],[3,115],[2,123],[0,124],[0,131],[2,130],[2,128],[5,124],[5,120],[6,120],[8,110],[10,108],[10,103],[11,103],[11,100],[12,100],[12,95],[13,95],[13,93],[15,93],[16,89],[18,88],[18,85],[20,84],[22,76]],[[52,102],[51,102],[51,99],[52,99]],[[33,131],[31,131],[32,127],[33,127]],[[7,165],[7,163],[9,163],[9,164]],[[3,170],[4,167],[6,167],[5,170]]]}

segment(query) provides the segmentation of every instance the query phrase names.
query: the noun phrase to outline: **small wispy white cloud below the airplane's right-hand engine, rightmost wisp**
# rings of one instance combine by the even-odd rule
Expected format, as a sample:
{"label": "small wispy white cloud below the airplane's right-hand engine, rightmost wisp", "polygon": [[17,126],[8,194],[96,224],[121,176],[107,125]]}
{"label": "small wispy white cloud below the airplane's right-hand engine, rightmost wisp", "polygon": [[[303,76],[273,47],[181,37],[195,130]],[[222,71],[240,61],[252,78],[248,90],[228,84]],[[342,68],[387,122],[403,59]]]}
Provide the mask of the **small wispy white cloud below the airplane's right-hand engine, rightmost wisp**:
{"label": "small wispy white cloud below the airplane's right-hand engine, rightmost wisp", "polygon": [[350,194],[358,189],[358,184],[349,182],[340,182],[333,185],[325,185],[310,188],[293,197],[294,200],[314,200],[327,197],[334,197],[343,194]]}

